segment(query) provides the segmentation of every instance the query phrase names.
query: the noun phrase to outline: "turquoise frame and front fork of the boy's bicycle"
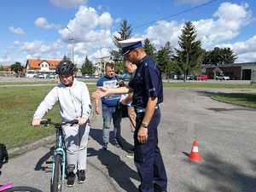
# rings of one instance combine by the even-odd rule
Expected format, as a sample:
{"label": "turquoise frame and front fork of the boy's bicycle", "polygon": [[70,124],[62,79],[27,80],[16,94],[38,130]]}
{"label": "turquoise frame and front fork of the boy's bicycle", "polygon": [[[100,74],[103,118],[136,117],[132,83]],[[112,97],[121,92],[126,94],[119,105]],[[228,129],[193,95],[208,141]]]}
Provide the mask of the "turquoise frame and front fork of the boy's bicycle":
{"label": "turquoise frame and front fork of the boy's bicycle", "polygon": [[55,125],[56,128],[56,144],[55,144],[55,150],[52,157],[53,160],[53,172],[51,173],[51,182],[53,182],[54,177],[54,170],[55,170],[55,155],[61,154],[61,183],[64,182],[65,179],[65,170],[66,170],[66,152],[64,147],[64,141],[63,141],[63,133],[61,130],[61,125]]}

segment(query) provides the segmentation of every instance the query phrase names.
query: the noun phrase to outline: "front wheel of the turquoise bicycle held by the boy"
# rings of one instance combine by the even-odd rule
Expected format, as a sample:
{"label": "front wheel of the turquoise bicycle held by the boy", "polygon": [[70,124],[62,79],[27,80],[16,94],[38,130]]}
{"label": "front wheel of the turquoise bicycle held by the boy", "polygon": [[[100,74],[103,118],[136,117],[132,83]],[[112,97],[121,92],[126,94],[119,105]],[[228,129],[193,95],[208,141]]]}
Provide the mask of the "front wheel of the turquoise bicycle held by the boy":
{"label": "front wheel of the turquoise bicycle held by the boy", "polygon": [[[53,174],[53,179],[50,183],[50,191],[51,192],[61,192],[61,154],[55,155],[55,169]],[[63,173],[64,174],[64,173]]]}

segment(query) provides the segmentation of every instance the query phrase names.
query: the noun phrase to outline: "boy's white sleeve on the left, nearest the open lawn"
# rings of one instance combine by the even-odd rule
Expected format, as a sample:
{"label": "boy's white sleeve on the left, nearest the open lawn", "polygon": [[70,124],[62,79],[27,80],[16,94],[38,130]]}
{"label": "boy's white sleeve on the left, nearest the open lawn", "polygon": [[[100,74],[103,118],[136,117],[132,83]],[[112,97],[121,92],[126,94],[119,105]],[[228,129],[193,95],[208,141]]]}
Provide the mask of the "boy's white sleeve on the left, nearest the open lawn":
{"label": "boy's white sleeve on the left, nearest the open lawn", "polygon": [[55,102],[58,101],[57,88],[50,90],[47,96],[44,97],[44,101],[40,103],[37,111],[34,113],[33,119],[42,119],[44,114],[53,108]]}

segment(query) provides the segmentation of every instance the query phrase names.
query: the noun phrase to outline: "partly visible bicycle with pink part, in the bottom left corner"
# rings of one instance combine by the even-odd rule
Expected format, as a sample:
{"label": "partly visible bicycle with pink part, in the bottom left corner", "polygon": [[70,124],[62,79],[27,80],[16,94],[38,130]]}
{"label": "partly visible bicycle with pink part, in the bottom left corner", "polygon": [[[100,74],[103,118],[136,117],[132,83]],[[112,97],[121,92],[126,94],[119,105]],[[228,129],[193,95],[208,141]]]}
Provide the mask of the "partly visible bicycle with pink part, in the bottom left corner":
{"label": "partly visible bicycle with pink part, in the bottom left corner", "polygon": [[14,183],[0,185],[0,192],[43,192],[42,190],[26,186],[14,186]]}

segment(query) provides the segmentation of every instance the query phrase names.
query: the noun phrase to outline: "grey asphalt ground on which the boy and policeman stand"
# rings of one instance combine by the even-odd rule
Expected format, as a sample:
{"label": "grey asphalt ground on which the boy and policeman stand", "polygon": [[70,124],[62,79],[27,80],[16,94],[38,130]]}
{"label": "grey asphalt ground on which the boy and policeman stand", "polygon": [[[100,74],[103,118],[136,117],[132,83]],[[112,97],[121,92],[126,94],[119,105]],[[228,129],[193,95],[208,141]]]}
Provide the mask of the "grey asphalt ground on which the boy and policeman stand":
{"label": "grey asphalt ground on which the boy and policeman stand", "polygon": [[[216,91],[216,90],[215,90]],[[159,145],[166,164],[169,192],[256,191],[256,110],[213,101],[212,91],[166,89],[161,106]],[[101,149],[102,117],[90,131],[87,180],[63,192],[137,192],[138,176],[125,150]],[[122,122],[125,148],[132,136],[127,119]],[[201,163],[189,162],[193,140],[199,142]],[[44,146],[4,164],[0,183],[34,186],[49,191],[50,166]]]}

